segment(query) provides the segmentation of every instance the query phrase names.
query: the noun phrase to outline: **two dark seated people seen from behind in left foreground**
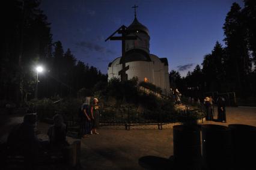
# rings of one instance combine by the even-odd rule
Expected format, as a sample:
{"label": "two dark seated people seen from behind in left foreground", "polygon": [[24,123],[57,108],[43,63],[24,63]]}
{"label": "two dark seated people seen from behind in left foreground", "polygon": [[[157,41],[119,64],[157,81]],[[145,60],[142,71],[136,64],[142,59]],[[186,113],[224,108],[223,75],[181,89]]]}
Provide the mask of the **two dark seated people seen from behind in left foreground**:
{"label": "two dark seated people seen from behind in left foreground", "polygon": [[53,125],[49,127],[47,135],[49,141],[43,141],[37,138],[35,127],[37,114],[26,114],[21,124],[17,124],[7,139],[8,153],[22,154],[25,157],[25,163],[32,165],[37,163],[38,155],[48,151],[64,151],[69,146],[66,141],[67,128],[61,115],[56,114],[53,117]]}

